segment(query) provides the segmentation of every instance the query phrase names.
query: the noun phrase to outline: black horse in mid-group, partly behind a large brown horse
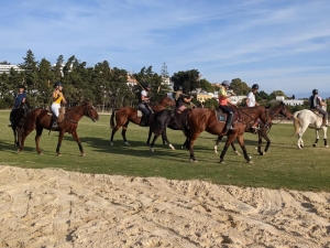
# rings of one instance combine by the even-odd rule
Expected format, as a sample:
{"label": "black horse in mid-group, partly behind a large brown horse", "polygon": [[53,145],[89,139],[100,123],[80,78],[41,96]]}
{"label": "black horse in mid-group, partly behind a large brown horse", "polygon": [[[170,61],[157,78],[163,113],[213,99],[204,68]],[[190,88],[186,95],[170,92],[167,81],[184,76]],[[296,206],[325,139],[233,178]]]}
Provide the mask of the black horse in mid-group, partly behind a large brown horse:
{"label": "black horse in mid-group, partly behind a large brown horse", "polygon": [[[154,144],[161,134],[163,144],[167,143],[172,150],[175,150],[173,144],[167,139],[166,127],[170,128],[172,130],[184,130],[189,111],[190,108],[187,108],[182,112],[163,109],[152,117],[146,141],[146,144],[150,147],[152,152],[154,151]],[[154,133],[154,139],[152,143],[150,143],[152,133]]]}

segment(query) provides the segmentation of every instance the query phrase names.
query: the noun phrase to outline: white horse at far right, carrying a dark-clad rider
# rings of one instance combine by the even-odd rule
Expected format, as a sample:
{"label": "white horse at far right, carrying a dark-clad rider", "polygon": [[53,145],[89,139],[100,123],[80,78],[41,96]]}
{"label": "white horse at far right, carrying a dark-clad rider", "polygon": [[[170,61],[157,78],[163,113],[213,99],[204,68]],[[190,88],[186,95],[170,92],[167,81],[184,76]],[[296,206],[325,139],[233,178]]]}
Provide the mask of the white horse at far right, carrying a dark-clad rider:
{"label": "white horse at far right, carrying a dark-clad rider", "polygon": [[304,141],[302,141],[302,134],[306,131],[307,128],[311,128],[316,130],[316,140],[312,147],[315,148],[320,139],[319,137],[319,130],[323,130],[323,141],[324,147],[328,148],[327,143],[327,127],[322,126],[322,115],[315,114],[314,111],[309,109],[302,109],[300,111],[296,111],[294,114],[294,125],[295,125],[295,131],[296,134],[298,134],[298,142],[297,145],[299,149],[304,148]]}

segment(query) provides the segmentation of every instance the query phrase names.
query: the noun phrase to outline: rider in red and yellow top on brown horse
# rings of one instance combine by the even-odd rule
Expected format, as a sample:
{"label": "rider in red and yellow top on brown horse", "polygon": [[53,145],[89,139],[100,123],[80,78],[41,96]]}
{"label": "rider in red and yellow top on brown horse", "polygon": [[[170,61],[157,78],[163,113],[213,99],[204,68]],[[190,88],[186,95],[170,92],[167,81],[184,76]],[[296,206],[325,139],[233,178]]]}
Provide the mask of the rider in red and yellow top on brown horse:
{"label": "rider in red and yellow top on brown horse", "polygon": [[228,115],[226,122],[226,131],[234,130],[234,128],[232,127],[233,110],[229,108],[228,104],[231,106],[237,106],[230,100],[230,97],[234,96],[235,94],[232,91],[228,93],[229,86],[230,82],[223,80],[219,90],[219,108]]}

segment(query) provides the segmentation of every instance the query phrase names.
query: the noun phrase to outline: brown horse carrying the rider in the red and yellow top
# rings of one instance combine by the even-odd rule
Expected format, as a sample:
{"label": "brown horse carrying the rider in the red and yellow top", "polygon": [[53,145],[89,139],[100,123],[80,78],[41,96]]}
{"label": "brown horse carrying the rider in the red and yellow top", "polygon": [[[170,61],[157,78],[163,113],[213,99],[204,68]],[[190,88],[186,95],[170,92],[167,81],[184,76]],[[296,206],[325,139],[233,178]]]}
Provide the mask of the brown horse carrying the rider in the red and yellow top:
{"label": "brown horse carrying the rider in the red and yellow top", "polygon": [[234,130],[226,131],[226,122],[219,121],[215,110],[205,108],[194,108],[188,115],[188,126],[185,127],[185,134],[188,138],[188,149],[190,153],[190,161],[196,162],[194,154],[194,143],[202,131],[207,131],[216,136],[228,136],[224,148],[220,154],[220,163],[223,163],[223,158],[229,145],[237,138],[241,149],[244,153],[244,158],[249,163],[252,163],[251,158],[248,155],[246,148],[244,145],[243,134],[245,132],[246,125],[252,120],[261,118],[264,123],[267,123],[267,108],[264,106],[250,107],[243,109],[237,109],[235,118],[238,120],[234,123]]}

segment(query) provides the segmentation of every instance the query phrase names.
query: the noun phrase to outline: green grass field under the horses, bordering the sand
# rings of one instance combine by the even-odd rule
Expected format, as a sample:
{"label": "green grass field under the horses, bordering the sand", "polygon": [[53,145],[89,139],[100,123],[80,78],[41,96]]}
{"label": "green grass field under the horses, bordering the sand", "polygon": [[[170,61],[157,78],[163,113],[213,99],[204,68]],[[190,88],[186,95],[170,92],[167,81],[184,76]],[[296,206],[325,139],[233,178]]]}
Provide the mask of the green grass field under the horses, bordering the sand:
{"label": "green grass field under the horses, bordering the sand", "polygon": [[[239,186],[258,186],[268,188],[290,188],[299,191],[330,192],[330,149],[323,147],[322,137],[318,148],[312,148],[315,130],[307,130],[304,136],[306,148],[298,150],[293,125],[274,125],[270,132],[271,148],[266,155],[256,152],[256,136],[245,133],[245,145],[253,164],[238,157],[231,148],[224,158],[226,164],[219,163],[219,154],[213,153],[216,136],[201,133],[195,143],[197,163],[189,162],[187,150],[180,150],[185,137],[180,131],[168,130],[168,139],[176,148],[163,145],[161,139],[155,144],[155,152],[146,147],[147,128],[130,123],[127,138],[131,147],[125,147],[121,131],[114,136],[114,145],[110,147],[109,115],[100,115],[100,120],[92,122],[84,117],[78,126],[86,157],[80,157],[78,145],[66,133],[62,144],[62,157],[56,157],[57,132],[44,130],[41,148],[44,154],[35,151],[33,131],[25,141],[23,152],[18,153],[13,145],[12,130],[7,127],[9,111],[0,111],[0,164],[20,168],[56,168],[67,171],[99,174],[121,174],[130,176],[161,176],[175,180],[201,180],[217,184]],[[322,133],[321,133],[322,134]],[[237,145],[239,151],[241,149]],[[219,144],[219,153],[223,142]]]}

